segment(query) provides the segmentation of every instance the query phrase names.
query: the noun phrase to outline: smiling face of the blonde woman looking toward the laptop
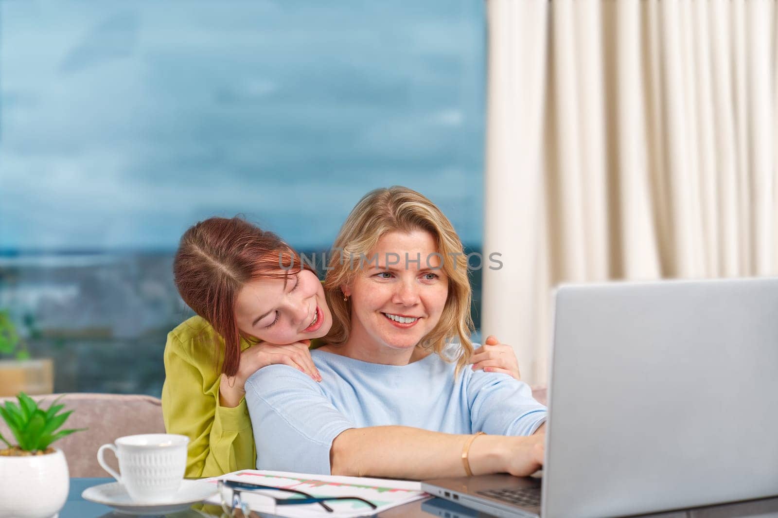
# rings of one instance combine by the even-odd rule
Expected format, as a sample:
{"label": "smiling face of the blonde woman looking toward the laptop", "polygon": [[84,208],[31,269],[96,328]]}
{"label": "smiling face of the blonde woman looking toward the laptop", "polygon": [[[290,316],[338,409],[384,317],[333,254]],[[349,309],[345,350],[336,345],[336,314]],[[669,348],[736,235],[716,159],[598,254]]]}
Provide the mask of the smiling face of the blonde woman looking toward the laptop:
{"label": "smiling face of the blonde woman looking toward the laptop", "polygon": [[372,261],[377,254],[377,264],[365,261],[352,284],[342,288],[352,300],[349,341],[379,354],[385,348],[407,351],[433,330],[448,297],[448,278],[436,252],[426,230],[381,236],[368,257]]}

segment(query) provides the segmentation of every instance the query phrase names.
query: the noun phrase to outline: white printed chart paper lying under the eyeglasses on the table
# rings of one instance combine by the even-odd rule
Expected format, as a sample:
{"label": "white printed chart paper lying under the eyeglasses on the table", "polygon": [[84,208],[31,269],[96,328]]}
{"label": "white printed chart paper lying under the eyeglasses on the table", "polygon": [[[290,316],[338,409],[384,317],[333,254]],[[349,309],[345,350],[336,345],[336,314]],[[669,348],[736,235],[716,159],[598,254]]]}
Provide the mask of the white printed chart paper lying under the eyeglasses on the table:
{"label": "white printed chart paper lying under the eyeglasses on the table", "polygon": [[[219,480],[233,480],[248,482],[251,484],[270,485],[275,488],[296,489],[315,497],[324,496],[359,496],[368,502],[373,502],[378,509],[371,509],[358,500],[343,500],[326,502],[335,513],[328,513],[319,504],[305,504],[299,506],[277,506],[275,516],[287,516],[289,518],[313,518],[314,516],[329,516],[330,518],[354,518],[356,516],[372,516],[394,506],[413,502],[427,496],[422,491],[421,482],[387,480],[384,478],[338,477],[334,475],[314,475],[304,473],[287,473],[284,471],[258,471],[243,470],[222,475],[221,477],[207,478],[205,481],[216,484]],[[286,495],[283,492],[260,491],[265,495],[273,495],[278,499],[295,498],[294,495]],[[242,491],[244,501],[251,509],[258,512],[268,512],[263,509],[266,499],[252,500],[250,491]],[[208,503],[220,505],[221,496],[215,495],[206,500]]]}

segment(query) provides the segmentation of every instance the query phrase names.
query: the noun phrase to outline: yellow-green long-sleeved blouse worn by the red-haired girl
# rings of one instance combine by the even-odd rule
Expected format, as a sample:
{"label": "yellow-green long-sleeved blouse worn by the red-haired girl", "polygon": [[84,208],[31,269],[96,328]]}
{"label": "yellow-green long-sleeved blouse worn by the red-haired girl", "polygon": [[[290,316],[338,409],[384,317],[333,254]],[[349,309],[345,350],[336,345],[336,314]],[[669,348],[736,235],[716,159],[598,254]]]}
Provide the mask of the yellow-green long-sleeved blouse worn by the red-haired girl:
{"label": "yellow-green long-sleeved blouse worn by the red-haired girl", "polygon": [[[240,350],[251,347],[240,341]],[[219,406],[224,341],[201,317],[167,334],[162,413],[168,433],[189,437],[187,478],[254,469],[257,451],[246,400]]]}

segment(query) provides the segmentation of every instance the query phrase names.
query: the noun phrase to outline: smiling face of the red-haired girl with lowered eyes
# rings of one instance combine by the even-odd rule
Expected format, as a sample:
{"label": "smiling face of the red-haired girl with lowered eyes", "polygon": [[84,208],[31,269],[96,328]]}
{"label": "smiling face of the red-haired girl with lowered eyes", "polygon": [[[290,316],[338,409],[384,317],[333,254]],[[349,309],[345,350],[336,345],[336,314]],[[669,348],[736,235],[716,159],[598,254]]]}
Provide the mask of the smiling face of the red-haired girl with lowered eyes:
{"label": "smiling face of the red-haired girl with lowered eyes", "polygon": [[308,270],[289,275],[286,286],[283,278],[247,282],[238,292],[235,318],[244,334],[277,345],[321,338],[332,325],[321,282]]}

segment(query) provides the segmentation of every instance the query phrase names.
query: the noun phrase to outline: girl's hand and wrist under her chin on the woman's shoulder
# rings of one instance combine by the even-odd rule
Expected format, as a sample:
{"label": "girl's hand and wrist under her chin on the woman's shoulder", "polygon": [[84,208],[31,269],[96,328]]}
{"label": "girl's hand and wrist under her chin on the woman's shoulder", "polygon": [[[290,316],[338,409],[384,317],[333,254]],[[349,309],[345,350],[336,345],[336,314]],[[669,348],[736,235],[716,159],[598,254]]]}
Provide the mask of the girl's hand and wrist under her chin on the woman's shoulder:
{"label": "girl's hand and wrist under her chin on the woman's shoulder", "polygon": [[219,404],[223,407],[237,407],[246,394],[246,380],[262,367],[284,364],[306,373],[314,381],[321,381],[319,369],[310,357],[310,340],[293,344],[275,345],[265,341],[252,345],[240,353],[240,366],[236,376],[222,374],[219,383]]}

